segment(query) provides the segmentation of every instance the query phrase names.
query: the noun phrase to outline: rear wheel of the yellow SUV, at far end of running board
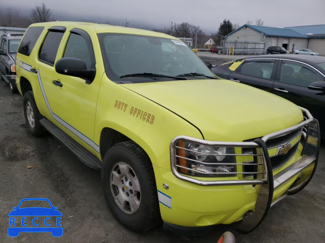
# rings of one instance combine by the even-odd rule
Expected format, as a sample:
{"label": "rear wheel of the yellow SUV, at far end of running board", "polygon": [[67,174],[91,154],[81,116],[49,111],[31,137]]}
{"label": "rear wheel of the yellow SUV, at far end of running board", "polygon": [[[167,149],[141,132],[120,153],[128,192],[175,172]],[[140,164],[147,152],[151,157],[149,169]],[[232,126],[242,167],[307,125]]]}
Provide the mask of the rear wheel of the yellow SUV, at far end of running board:
{"label": "rear wheel of the yellow SUV, at far end of running board", "polygon": [[27,91],[24,94],[24,115],[26,124],[31,135],[35,137],[43,136],[45,133],[44,128],[42,127],[40,120],[42,119],[42,115],[37,108],[34,94],[32,91]]}

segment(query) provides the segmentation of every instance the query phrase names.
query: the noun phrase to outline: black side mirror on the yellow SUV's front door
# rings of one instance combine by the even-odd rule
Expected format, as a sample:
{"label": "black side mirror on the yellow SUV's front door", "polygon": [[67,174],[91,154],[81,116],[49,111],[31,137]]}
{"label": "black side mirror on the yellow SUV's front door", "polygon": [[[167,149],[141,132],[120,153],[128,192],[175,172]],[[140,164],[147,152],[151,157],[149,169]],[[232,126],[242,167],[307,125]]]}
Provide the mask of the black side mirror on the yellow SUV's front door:
{"label": "black side mirror on the yellow SUV's front door", "polygon": [[95,77],[95,69],[87,69],[85,61],[72,58],[72,57],[63,57],[59,59],[55,64],[55,71],[57,73],[86,78],[93,80]]}

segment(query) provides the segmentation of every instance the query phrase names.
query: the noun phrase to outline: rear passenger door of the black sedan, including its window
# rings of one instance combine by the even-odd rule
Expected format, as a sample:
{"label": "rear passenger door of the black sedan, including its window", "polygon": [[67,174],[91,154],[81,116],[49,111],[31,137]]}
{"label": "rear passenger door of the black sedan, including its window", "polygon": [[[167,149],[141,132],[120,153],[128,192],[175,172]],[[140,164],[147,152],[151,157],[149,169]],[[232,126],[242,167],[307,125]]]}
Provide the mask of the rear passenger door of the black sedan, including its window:
{"label": "rear passenger door of the black sedan, including its window", "polygon": [[229,79],[255,88],[272,92],[277,59],[248,59]]}

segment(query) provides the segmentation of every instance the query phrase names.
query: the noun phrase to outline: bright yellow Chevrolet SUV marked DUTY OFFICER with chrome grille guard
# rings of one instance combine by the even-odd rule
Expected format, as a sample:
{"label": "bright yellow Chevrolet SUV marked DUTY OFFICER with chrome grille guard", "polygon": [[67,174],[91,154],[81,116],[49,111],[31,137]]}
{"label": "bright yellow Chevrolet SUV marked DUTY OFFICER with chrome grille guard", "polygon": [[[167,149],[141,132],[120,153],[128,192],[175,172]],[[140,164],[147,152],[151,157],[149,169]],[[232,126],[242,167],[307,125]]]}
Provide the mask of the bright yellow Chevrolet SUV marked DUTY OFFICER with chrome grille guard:
{"label": "bright yellow Chevrolet SUV marked DUTY OFFICER with chrome grille guard", "polygon": [[[102,171],[114,216],[254,229],[316,169],[310,113],[217,79],[179,39],[106,24],[32,24],[16,57],[31,134],[47,130]],[[299,204],[299,202],[297,202]]]}

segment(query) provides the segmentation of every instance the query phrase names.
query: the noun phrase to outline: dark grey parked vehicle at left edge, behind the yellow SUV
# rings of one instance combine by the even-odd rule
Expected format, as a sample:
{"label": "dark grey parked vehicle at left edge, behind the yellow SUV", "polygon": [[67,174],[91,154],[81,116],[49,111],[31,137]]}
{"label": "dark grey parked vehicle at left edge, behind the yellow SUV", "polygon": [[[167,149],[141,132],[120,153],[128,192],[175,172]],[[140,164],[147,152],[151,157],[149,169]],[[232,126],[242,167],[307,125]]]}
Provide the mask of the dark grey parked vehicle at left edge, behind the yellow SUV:
{"label": "dark grey parked vehicle at left edge, behind the yellow SUV", "polygon": [[[17,92],[15,56],[23,34],[3,34],[0,38],[0,77]],[[1,79],[0,78],[0,79]]]}

